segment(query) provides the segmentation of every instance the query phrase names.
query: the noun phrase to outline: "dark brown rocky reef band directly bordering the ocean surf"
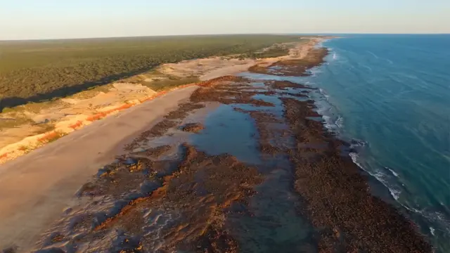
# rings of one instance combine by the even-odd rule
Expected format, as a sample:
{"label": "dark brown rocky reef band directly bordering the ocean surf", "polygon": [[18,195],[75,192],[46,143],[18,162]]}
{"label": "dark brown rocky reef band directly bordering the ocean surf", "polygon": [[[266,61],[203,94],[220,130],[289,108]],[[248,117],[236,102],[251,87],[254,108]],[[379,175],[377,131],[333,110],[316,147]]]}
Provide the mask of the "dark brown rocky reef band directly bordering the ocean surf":
{"label": "dark brown rocky reef band directly bordering the ocean surf", "polygon": [[[277,69],[254,72],[281,77],[305,76],[310,74],[306,70],[323,63],[325,56],[321,55],[321,60],[305,68],[300,64],[290,69],[290,63],[281,61],[271,67],[282,66],[283,71]],[[351,156],[356,153],[351,143],[342,141],[330,129],[323,131],[323,122],[309,119],[323,115],[318,115],[313,110],[306,113],[295,110],[296,107],[316,108],[314,101],[299,102],[293,98],[285,98],[283,103],[290,128],[294,129],[295,138],[301,143],[297,144],[297,150],[290,152],[290,160],[296,166],[295,189],[304,198],[304,204],[307,206],[302,212],[309,216],[316,228],[326,227],[324,231],[319,232],[319,249],[323,252],[358,252],[364,248],[375,252],[385,252],[386,248],[390,248],[388,252],[432,252],[430,242],[425,239],[425,235],[420,234],[413,221],[392,204],[373,195],[368,186],[366,171]],[[327,140],[328,148],[317,148],[316,142],[323,141],[323,138]],[[311,159],[309,155],[302,155],[305,153],[323,153],[323,157]],[[367,200],[363,200],[364,198]],[[345,204],[346,202],[349,203]],[[359,206],[356,203],[364,204]],[[381,237],[387,233],[390,235],[379,238],[382,231],[384,235]],[[392,241],[384,244],[389,240]]]}

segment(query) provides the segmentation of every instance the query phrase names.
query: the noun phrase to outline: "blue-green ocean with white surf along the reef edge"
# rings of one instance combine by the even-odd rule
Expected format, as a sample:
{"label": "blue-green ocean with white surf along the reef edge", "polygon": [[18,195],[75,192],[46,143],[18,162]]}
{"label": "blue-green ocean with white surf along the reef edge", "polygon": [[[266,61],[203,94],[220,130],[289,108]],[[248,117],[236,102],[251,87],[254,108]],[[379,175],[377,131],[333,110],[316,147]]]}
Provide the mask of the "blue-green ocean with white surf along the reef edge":
{"label": "blue-green ocean with white surf along the reef edge", "polygon": [[304,78],[373,193],[450,252],[450,35],[343,35]]}

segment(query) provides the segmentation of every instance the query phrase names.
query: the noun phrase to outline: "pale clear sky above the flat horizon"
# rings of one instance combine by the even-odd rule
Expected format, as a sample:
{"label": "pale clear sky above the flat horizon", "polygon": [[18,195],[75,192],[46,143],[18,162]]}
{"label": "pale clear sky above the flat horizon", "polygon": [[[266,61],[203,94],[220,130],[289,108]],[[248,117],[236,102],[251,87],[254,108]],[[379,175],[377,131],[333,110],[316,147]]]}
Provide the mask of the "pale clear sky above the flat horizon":
{"label": "pale clear sky above the flat horizon", "polygon": [[0,39],[450,33],[450,0],[0,0]]}

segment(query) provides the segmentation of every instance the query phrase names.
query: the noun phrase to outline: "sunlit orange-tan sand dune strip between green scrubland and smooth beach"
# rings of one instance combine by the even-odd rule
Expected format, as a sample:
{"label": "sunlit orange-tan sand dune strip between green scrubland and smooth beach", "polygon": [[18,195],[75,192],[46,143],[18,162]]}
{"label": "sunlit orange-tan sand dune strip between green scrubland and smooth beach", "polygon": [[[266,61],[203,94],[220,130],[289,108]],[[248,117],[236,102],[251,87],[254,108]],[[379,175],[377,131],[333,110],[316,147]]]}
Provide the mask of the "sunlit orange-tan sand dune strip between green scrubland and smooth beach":
{"label": "sunlit orange-tan sand dune strip between green scrubland and smooth beach", "polygon": [[[308,39],[309,41],[307,41],[307,43],[305,43],[304,41],[296,42],[296,46],[294,48],[290,48],[288,55],[279,56],[276,58],[262,58],[258,60],[247,58],[243,61],[233,61],[233,59],[219,60],[219,57],[214,56],[196,60],[183,60],[180,63],[163,64],[158,67],[157,70],[161,70],[166,74],[174,74],[175,76],[179,77],[188,75],[186,73],[191,72],[195,68],[198,68],[198,65],[203,64],[203,61],[205,61],[206,64],[212,65],[212,67],[209,68],[206,66],[205,70],[199,72],[199,82],[176,86],[172,89],[165,89],[163,91],[155,92],[151,89],[143,87],[139,83],[137,83],[138,85],[136,85],[133,81],[134,78],[139,79],[142,75],[138,74],[136,76],[129,77],[128,79],[123,79],[122,81],[108,84],[115,86],[115,89],[113,89],[115,91],[103,91],[102,89],[97,96],[89,100],[73,99],[72,97],[77,97],[77,94],[75,94],[70,98],[62,98],[60,100],[56,100],[56,105],[53,105],[54,109],[45,108],[43,110],[40,110],[40,112],[37,114],[34,112],[27,112],[26,110],[25,112],[20,112],[25,115],[32,115],[33,121],[39,122],[39,124],[34,123],[36,125],[43,124],[43,122],[44,124],[46,124],[46,122],[51,122],[51,125],[53,125],[54,129],[51,131],[45,131],[44,133],[41,133],[41,130],[34,130],[33,132],[29,130],[34,129],[33,124],[25,124],[22,128],[18,128],[18,126],[15,126],[14,128],[3,129],[4,133],[0,133],[0,137],[2,138],[9,138],[10,136],[23,137],[18,138],[18,140],[14,142],[10,141],[2,143],[4,146],[0,147],[0,164],[4,164],[5,162],[14,160],[17,157],[26,155],[27,153],[30,153],[33,150],[46,145],[46,143],[53,142],[60,137],[82,129],[84,126],[87,126],[92,122],[96,122],[98,119],[103,119],[104,117],[115,115],[117,112],[127,110],[134,105],[139,105],[148,100],[158,98],[158,96],[163,96],[167,92],[174,91],[176,89],[183,89],[187,86],[198,84],[201,85],[203,82],[207,82],[210,79],[217,79],[219,77],[227,75],[238,74],[239,72],[248,70],[249,67],[252,67],[254,65],[271,65],[279,60],[303,58],[304,56],[306,56],[309,48],[314,47],[314,45],[318,44],[320,41],[323,41],[324,39],[326,39],[326,37]],[[217,60],[219,60],[219,63],[216,63]],[[217,66],[214,66],[214,64]],[[153,77],[150,79],[153,79]],[[88,91],[82,91],[79,94],[86,92]],[[114,93],[117,93],[117,95],[115,96],[118,96],[119,98],[111,100],[111,98],[109,97],[111,94],[114,95]],[[105,106],[105,103],[107,103],[108,105]],[[95,110],[92,110],[91,105],[93,104],[98,104],[100,106],[98,108],[95,108]],[[53,118],[53,115],[57,115],[56,118]],[[2,115],[2,117],[5,117],[5,115]]]}

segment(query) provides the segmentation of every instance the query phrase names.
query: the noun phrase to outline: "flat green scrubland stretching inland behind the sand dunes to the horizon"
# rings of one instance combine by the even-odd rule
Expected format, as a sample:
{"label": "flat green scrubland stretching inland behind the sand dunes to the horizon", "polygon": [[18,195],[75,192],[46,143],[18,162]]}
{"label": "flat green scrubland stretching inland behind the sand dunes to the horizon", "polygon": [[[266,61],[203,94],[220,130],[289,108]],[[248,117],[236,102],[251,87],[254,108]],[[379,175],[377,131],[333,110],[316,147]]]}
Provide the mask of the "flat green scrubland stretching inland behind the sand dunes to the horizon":
{"label": "flat green scrubland stretching inland behind the sand dunes to the horizon", "polygon": [[[70,96],[162,63],[231,54],[250,56],[255,51],[260,51],[251,55],[255,58],[278,56],[287,49],[261,49],[289,41],[298,41],[298,37],[217,35],[0,41],[0,110]],[[177,82],[188,80],[165,82],[176,86]]]}

